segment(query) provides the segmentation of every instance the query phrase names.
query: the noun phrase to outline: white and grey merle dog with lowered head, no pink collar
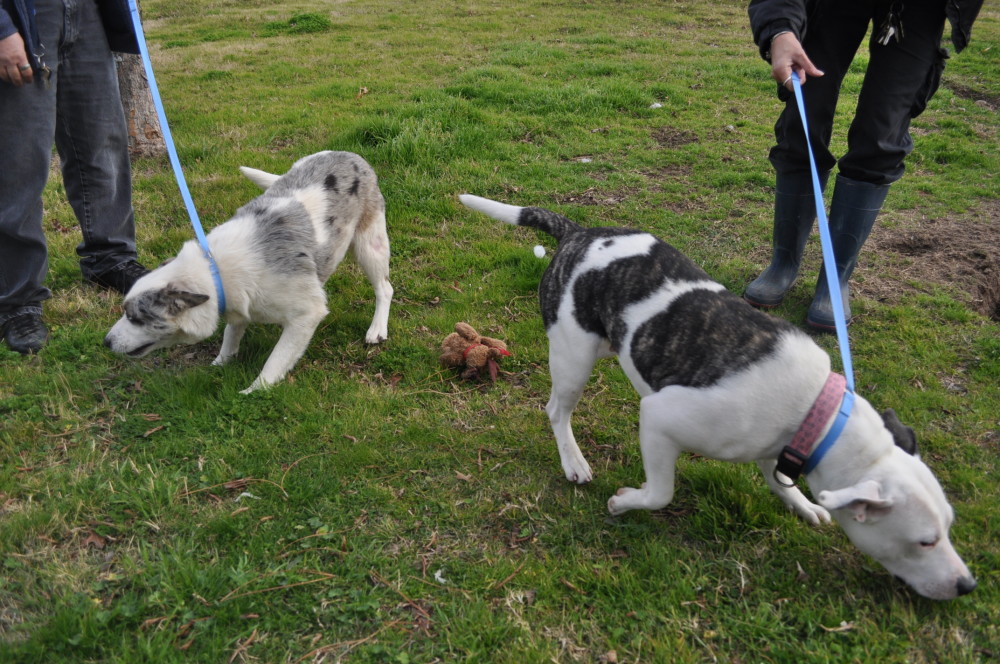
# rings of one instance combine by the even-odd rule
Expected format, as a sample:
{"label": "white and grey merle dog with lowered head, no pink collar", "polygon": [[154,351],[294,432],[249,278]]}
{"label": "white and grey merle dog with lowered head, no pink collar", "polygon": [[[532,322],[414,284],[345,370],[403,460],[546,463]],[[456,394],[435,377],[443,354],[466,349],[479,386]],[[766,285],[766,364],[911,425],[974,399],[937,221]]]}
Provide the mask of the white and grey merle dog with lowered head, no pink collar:
{"label": "white and grey merle dog with lowered head, no pink collar", "polygon": [[[282,326],[281,337],[244,393],[280,381],[305,352],[326,316],[326,280],[351,248],[375,289],[375,317],[365,335],[388,335],[392,285],[385,200],[375,171],[351,152],[319,152],[285,175],[241,172],[265,192],[208,234],[225,297],[226,329],[212,364],[236,355],[247,325]],[[104,344],[142,357],[157,348],[191,344],[219,322],[216,286],[198,242],[139,279],[125,296],[125,315]]]}

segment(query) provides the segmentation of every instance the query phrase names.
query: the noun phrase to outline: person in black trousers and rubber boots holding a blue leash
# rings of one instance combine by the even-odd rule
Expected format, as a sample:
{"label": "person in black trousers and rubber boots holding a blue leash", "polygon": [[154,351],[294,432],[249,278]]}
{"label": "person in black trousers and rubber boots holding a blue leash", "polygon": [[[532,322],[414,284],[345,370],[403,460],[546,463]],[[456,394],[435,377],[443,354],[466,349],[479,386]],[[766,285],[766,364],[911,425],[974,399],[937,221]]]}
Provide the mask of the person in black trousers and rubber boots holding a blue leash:
{"label": "person in black trousers and rubber boots holding a blue leash", "polygon": [[[770,160],[776,172],[773,256],[744,298],[755,306],[781,303],[799,271],[816,219],[809,155],[791,73],[802,80],[809,140],[816,152],[820,186],[834,165],[830,235],[845,320],[850,321],[847,282],[890,185],[903,176],[913,150],[910,120],[937,90],[948,52],[941,40],[947,20],[961,51],[983,0],[751,0],[750,26],[761,56],[771,63],[785,108],[774,127]],[[869,27],[869,60],[847,134],[847,152],[830,153],[840,86]],[[806,323],[834,329],[833,306],[820,271]]]}

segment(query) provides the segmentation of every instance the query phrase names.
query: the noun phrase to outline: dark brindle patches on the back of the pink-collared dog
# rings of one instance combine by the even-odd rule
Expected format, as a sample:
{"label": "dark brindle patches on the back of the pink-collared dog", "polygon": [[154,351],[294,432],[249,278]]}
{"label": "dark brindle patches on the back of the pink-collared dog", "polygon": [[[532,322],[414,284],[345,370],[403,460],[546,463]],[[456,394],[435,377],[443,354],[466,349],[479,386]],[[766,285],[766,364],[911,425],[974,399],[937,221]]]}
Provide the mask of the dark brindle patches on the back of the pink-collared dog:
{"label": "dark brindle patches on the back of the pink-collared dog", "polygon": [[[522,222],[523,217],[522,212]],[[698,289],[641,323],[631,346],[623,348],[630,330],[622,316],[630,305],[669,282],[712,282],[691,259],[656,240],[645,254],[625,256],[577,275],[567,293],[592,247],[609,249],[616,238],[635,235],[639,234],[624,228],[578,228],[564,235],[539,285],[546,328],[556,322],[563,298],[572,297],[573,316],[580,327],[607,339],[616,352],[630,354],[654,390],[677,384],[713,385],[773,353],[781,335],[795,331],[790,323],[755,310],[728,291]]]}

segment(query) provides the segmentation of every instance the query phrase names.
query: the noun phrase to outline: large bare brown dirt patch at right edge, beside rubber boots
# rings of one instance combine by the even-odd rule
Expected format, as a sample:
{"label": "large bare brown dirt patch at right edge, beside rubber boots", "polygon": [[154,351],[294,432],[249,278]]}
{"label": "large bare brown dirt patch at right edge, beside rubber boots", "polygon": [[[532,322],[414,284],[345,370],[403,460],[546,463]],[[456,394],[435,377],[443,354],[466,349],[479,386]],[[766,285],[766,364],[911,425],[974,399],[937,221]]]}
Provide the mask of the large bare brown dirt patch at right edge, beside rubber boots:
{"label": "large bare brown dirt patch at right edge, beside rubber boots", "polygon": [[984,203],[974,215],[927,219],[908,213],[891,228],[876,225],[865,253],[884,267],[852,284],[859,294],[895,301],[938,285],[1000,321],[1000,200]]}

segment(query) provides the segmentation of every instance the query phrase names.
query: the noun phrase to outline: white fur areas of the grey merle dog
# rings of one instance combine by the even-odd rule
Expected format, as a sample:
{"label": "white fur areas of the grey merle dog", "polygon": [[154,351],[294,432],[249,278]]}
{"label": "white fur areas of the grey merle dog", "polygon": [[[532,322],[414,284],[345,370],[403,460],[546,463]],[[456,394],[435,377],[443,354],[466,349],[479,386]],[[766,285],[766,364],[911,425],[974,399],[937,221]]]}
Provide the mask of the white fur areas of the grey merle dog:
{"label": "white fur areas of the grey merle dog", "polygon": [[[360,157],[350,153],[318,153],[301,159],[295,166],[310,159],[332,159],[338,155],[348,155],[363,164]],[[295,166],[289,171],[289,176],[295,172]],[[240,170],[265,190],[285,177],[246,167]],[[282,206],[300,204],[312,225],[312,244],[315,247],[329,245],[330,260],[311,274],[276,271],[275,265],[257,258],[261,238],[250,206],[241,208],[231,220],[208,234],[209,248],[218,265],[226,298],[222,347],[212,364],[226,364],[236,355],[251,322],[273,323],[282,327],[281,336],[260,375],[243,393],[277,383],[298,362],[328,313],[324,284],[343,260],[348,248],[353,250],[375,289],[375,315],[365,334],[365,341],[374,344],[388,337],[389,307],[393,294],[388,279],[389,238],[384,202],[374,183],[374,174],[369,173],[369,176],[371,189],[361,201],[356,215],[343,214],[344,210],[337,208],[322,182],[303,182],[290,188],[286,196],[268,199],[267,211],[275,214],[281,213]],[[340,215],[336,228],[328,222],[332,215]],[[312,251],[312,247],[283,249],[294,250],[297,255]],[[162,302],[162,307],[157,304],[158,308],[162,308],[162,318],[151,323],[137,320],[137,313],[130,314],[130,306],[139,306],[137,303],[142,302],[143,297],[150,302]],[[189,241],[175,259],[135,283],[125,298],[126,314],[112,327],[105,344],[115,352],[139,357],[157,348],[196,343],[217,328],[217,303],[208,259],[196,241]]]}

